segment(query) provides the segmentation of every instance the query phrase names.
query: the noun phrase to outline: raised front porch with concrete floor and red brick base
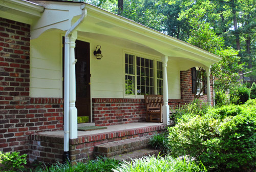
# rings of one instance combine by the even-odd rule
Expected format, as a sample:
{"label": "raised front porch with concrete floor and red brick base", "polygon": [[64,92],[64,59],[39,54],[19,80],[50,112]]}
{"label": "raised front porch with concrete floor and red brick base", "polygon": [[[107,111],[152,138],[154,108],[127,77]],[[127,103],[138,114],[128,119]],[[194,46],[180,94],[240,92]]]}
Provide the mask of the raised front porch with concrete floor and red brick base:
{"label": "raised front porch with concrete floor and red brick base", "polygon": [[[155,132],[165,131],[162,123],[137,122],[119,125],[110,125],[107,129],[81,132],[77,139],[70,139],[71,163],[86,162],[95,158],[95,146],[132,139],[147,137]],[[29,161],[37,160],[45,163],[62,162],[63,131],[42,132],[30,135]]]}

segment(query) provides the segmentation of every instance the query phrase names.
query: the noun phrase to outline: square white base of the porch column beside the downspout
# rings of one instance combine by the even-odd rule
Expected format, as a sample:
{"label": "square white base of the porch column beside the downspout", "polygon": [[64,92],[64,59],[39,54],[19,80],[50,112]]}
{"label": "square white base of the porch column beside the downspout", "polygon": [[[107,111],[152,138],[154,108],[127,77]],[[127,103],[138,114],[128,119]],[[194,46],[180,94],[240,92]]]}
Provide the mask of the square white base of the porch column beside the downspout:
{"label": "square white base of the porch column beside the downspout", "polygon": [[75,106],[71,106],[69,108],[69,138],[76,139],[77,138],[77,109]]}

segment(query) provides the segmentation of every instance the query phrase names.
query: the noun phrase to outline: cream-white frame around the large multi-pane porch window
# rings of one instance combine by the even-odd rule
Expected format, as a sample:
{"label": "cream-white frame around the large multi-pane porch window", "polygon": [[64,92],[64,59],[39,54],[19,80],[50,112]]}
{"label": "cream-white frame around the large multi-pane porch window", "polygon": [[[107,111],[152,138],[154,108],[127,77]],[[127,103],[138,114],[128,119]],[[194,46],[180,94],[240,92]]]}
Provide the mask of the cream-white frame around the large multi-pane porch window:
{"label": "cream-white frame around the large multi-pane porch window", "polygon": [[[125,94],[125,92],[126,92],[126,90],[125,90],[125,75],[127,75],[125,73],[125,54],[134,55],[135,95]],[[157,78],[157,61],[162,62],[161,58],[157,57],[157,56],[147,55],[147,54],[134,53],[134,52],[131,52],[131,51],[124,51],[124,53],[123,53],[123,76],[124,76],[123,77],[123,96],[124,96],[124,98],[144,98],[144,95],[138,95],[137,94],[137,57],[153,60],[154,94],[157,94],[157,80],[159,79],[159,78]]]}

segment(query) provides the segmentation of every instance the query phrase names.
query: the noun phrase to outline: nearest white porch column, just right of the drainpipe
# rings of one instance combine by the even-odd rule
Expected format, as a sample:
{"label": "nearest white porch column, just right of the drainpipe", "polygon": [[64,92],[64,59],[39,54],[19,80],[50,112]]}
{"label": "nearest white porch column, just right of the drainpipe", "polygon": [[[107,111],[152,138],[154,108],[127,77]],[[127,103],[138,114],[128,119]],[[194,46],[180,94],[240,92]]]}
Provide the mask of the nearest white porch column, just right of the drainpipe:
{"label": "nearest white porch column, just right of the drainpipe", "polygon": [[69,138],[77,138],[77,109],[76,109],[76,75],[75,75],[75,41],[77,31],[74,31],[70,36],[70,72],[69,72]]}

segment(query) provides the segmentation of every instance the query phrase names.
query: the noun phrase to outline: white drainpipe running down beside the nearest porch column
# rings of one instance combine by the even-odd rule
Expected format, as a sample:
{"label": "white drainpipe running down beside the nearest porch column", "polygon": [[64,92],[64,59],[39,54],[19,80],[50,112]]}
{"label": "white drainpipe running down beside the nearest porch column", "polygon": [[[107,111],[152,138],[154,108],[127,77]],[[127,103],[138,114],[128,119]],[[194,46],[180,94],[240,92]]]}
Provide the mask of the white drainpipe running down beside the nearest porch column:
{"label": "white drainpipe running down beside the nearest porch column", "polygon": [[70,68],[70,35],[77,29],[87,16],[86,5],[81,5],[82,14],[65,34],[65,64],[64,64],[64,151],[62,162],[69,162],[69,68]]}

